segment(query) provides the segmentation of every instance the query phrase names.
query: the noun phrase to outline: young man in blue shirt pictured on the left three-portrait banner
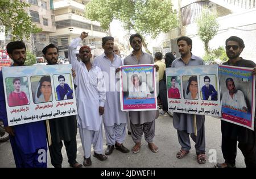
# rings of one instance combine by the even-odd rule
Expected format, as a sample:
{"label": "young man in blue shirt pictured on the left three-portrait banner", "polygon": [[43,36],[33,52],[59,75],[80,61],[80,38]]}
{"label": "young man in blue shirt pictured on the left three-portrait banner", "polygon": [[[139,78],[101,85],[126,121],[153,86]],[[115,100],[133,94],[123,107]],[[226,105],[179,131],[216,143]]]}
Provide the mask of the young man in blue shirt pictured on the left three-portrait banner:
{"label": "young man in blue shirt pictured on the left three-portrait banner", "polygon": [[63,75],[58,76],[60,84],[56,87],[56,93],[58,100],[73,99],[73,90],[68,84],[65,84],[65,77]]}

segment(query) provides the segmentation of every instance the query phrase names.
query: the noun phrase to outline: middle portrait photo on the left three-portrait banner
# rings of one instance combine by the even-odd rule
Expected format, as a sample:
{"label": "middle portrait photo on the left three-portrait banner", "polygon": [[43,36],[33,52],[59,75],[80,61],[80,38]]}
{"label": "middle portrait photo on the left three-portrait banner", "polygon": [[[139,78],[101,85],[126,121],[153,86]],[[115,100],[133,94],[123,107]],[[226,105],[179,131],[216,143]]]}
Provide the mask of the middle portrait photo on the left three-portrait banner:
{"label": "middle portrait photo on the left three-portrait banner", "polygon": [[30,81],[34,103],[52,102],[51,76],[31,76]]}

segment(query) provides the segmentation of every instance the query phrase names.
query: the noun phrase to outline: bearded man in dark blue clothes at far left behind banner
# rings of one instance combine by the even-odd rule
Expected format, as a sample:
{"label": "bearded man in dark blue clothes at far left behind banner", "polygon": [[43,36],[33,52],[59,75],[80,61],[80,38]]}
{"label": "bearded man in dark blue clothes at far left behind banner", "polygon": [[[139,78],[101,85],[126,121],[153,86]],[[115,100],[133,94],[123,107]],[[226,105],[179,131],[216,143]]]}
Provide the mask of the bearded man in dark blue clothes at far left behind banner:
{"label": "bearded man in dark blue clothes at far left behind banner", "polygon": [[[7,53],[13,59],[13,66],[23,66],[26,61],[26,46],[23,41],[11,41],[6,46]],[[11,67],[9,67],[11,70]],[[8,126],[3,88],[3,76],[0,71],[0,114],[6,132],[10,134],[11,148],[17,168],[47,167],[46,127],[44,121]]]}

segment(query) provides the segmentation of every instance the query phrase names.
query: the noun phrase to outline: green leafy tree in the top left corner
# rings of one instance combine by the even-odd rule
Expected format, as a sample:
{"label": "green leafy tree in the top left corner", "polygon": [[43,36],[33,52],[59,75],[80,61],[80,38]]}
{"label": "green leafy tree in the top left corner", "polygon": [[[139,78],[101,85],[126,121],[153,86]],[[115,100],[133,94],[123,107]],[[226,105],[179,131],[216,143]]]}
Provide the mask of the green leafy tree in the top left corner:
{"label": "green leafy tree in the top left corner", "polygon": [[32,33],[42,31],[32,23],[31,17],[27,14],[30,5],[19,0],[0,1],[0,31],[5,31],[6,35],[11,34],[11,40],[22,40],[30,38]]}

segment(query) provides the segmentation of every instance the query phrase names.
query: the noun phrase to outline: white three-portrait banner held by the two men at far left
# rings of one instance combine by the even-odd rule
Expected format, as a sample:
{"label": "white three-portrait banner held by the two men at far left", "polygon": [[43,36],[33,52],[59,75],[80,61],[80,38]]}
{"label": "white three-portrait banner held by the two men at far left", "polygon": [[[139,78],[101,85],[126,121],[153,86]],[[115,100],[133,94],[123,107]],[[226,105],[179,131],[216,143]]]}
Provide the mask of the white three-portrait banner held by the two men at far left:
{"label": "white three-portrait banner held by the two men at far left", "polygon": [[71,65],[11,66],[2,71],[9,126],[77,114]]}

